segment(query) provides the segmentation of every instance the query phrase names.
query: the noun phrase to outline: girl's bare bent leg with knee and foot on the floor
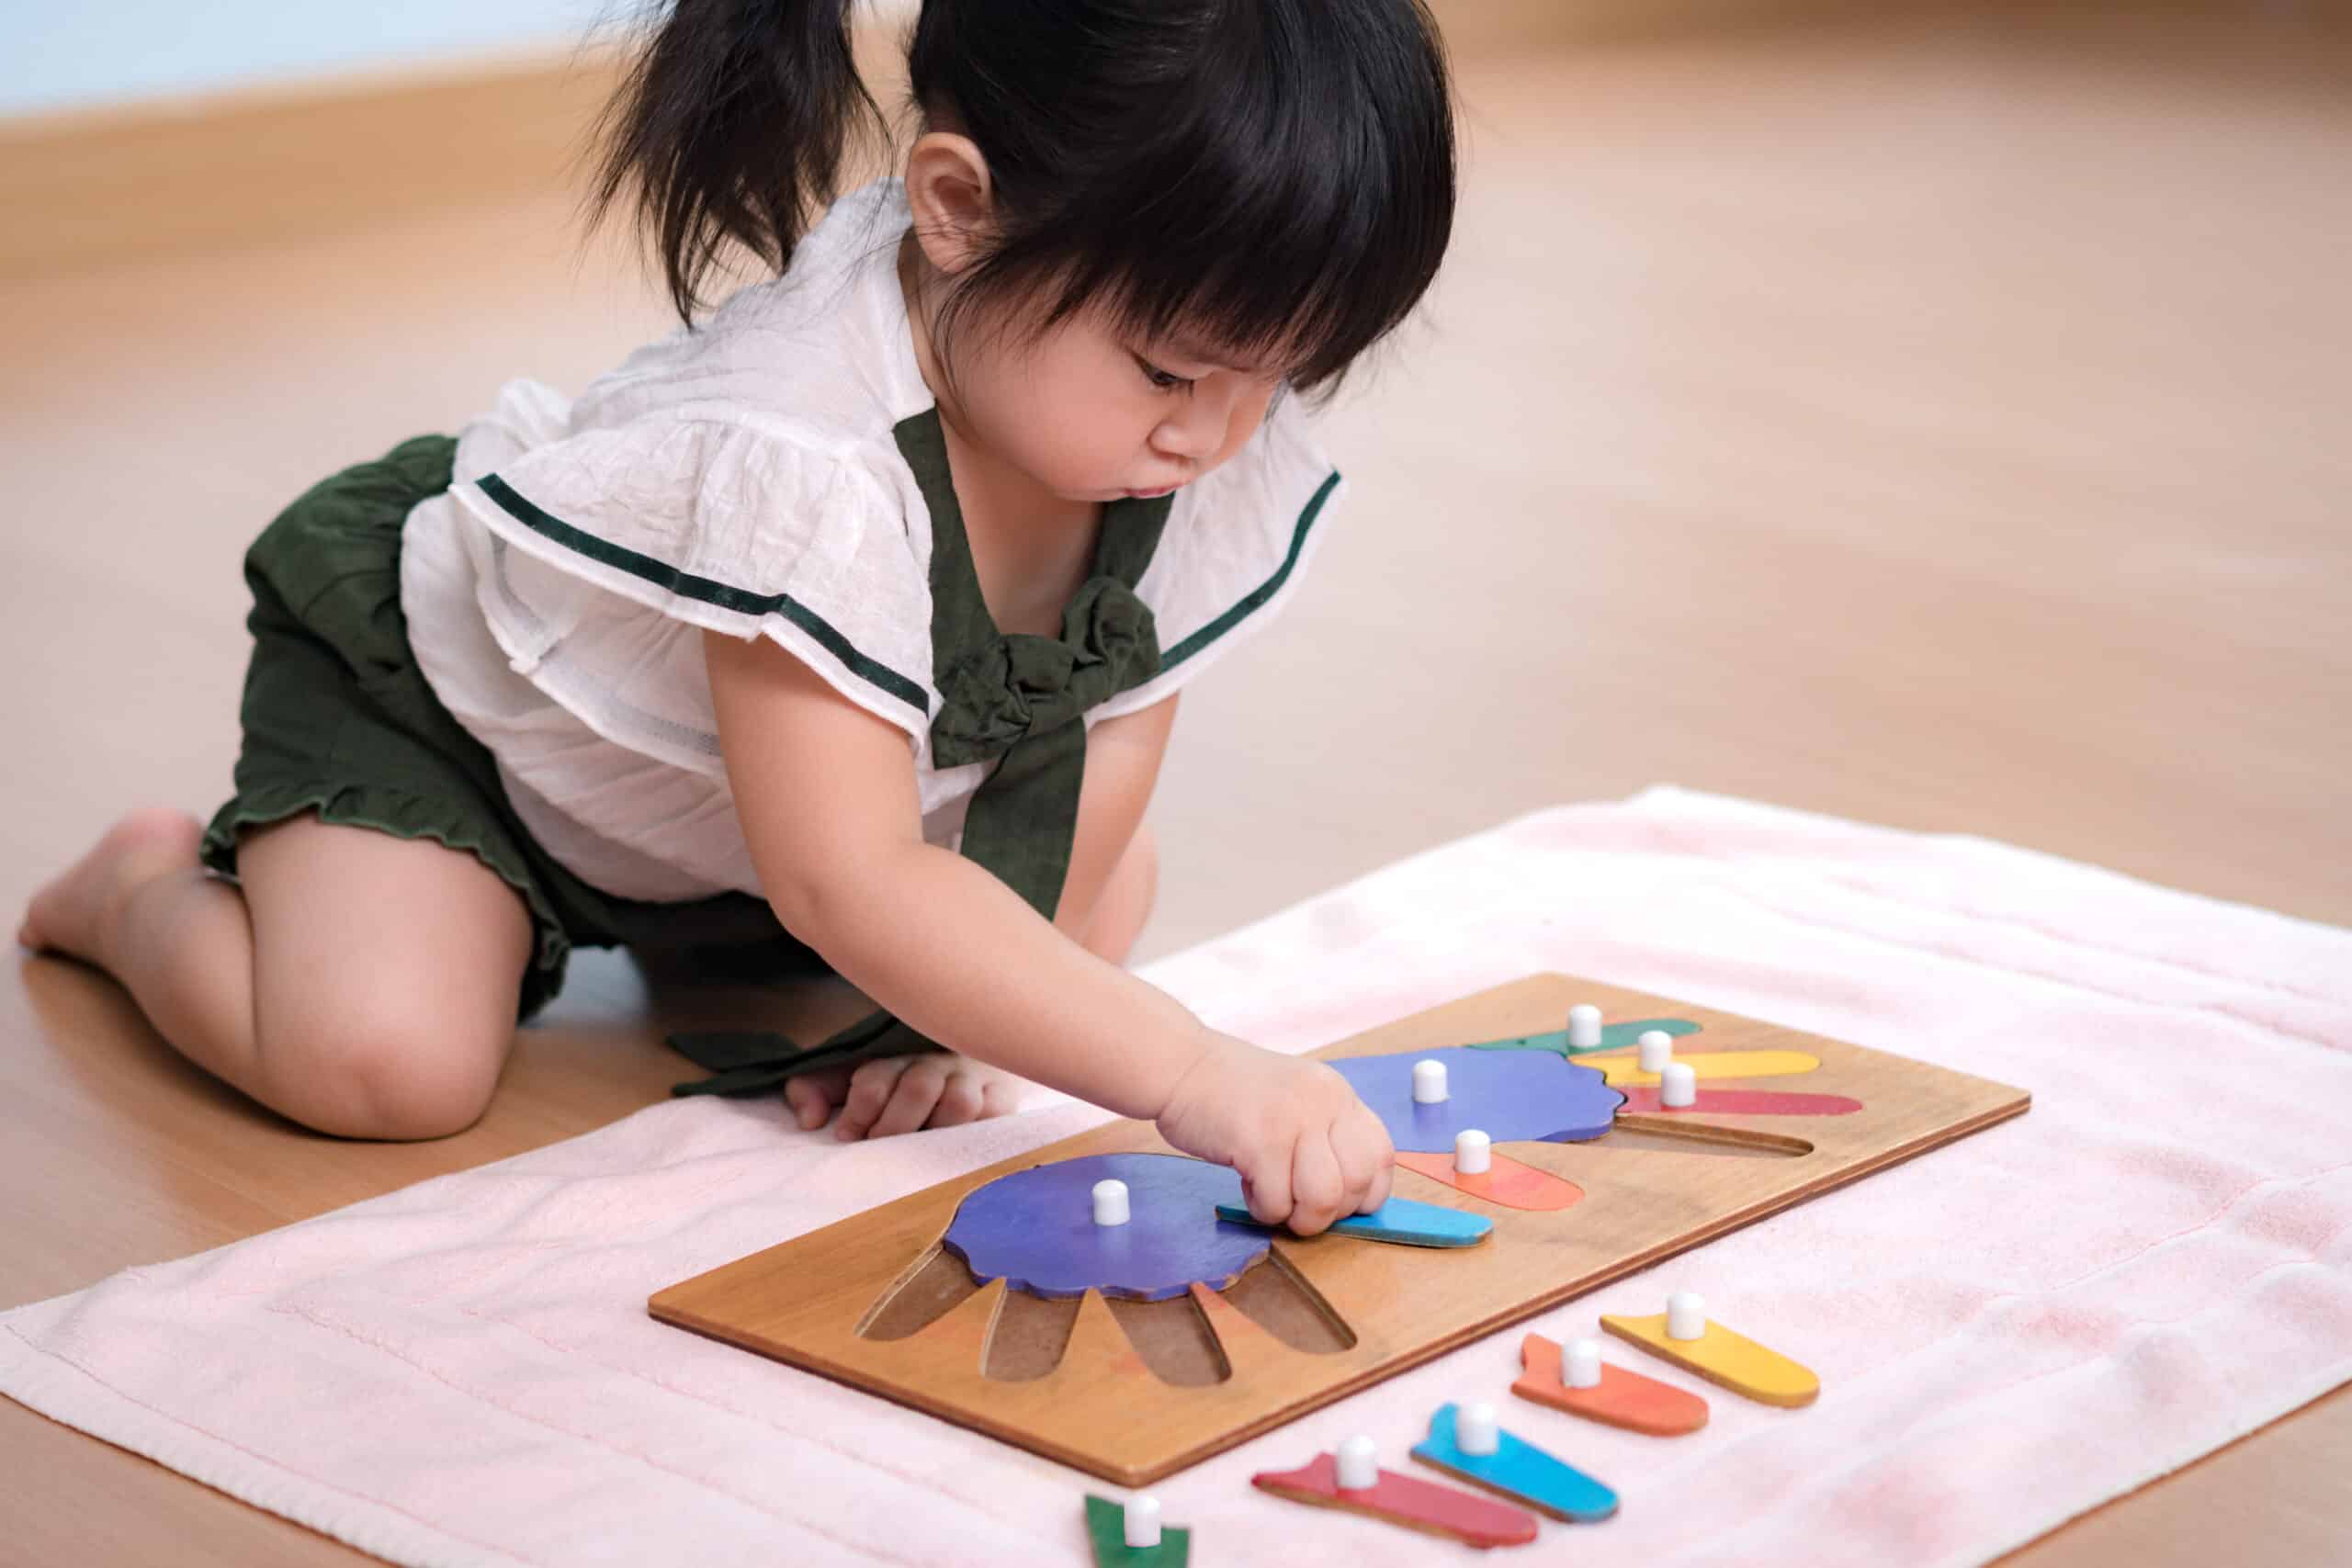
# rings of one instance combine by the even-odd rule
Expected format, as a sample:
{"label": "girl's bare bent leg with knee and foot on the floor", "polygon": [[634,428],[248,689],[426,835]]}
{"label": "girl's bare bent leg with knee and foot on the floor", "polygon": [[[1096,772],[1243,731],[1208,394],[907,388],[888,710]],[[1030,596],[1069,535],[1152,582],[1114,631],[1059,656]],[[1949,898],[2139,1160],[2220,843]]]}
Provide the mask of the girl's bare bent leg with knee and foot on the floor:
{"label": "girl's bare bent leg with knee and foot on the floor", "polygon": [[118,823],[26,914],[33,947],[113,973],[155,1030],[263,1105],[343,1138],[440,1138],[489,1103],[532,922],[428,839],[294,818],[195,860],[176,811]]}

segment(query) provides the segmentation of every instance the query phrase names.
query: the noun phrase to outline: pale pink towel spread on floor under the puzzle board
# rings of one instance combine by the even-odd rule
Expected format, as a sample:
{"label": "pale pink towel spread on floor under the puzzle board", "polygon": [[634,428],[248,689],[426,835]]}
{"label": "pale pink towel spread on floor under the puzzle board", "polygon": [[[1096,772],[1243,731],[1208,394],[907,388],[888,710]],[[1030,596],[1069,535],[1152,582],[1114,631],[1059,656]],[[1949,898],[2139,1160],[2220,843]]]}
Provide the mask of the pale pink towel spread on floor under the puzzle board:
{"label": "pale pink towel spread on floor under the puzzle board", "polygon": [[[2352,1378],[2352,933],[1651,790],[1423,853],[1150,978],[1296,1051],[1543,969],[2034,1110],[1531,1324],[1592,1333],[1696,1288],[1816,1368],[1820,1403],[1710,1392],[1696,1436],[1623,1434],[1510,1399],[1510,1328],[1157,1486],[1197,1561],[1451,1556],[1249,1474],[1350,1432],[1411,1469],[1435,1406],[1494,1399],[1623,1493],[1611,1523],[1545,1526],[1545,1561],[1973,1563]],[[0,1389],[402,1563],[1077,1563],[1080,1495],[1110,1488],[663,1328],[644,1298],[1098,1119],[837,1147],[774,1103],[656,1105],[9,1312]]]}

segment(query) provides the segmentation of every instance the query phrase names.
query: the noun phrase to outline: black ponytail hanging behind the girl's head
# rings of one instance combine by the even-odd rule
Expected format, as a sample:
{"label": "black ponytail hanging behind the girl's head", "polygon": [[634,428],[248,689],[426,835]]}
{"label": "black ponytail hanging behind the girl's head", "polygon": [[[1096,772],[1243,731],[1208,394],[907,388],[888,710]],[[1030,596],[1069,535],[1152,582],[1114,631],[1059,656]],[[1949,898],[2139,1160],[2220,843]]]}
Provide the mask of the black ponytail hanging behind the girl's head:
{"label": "black ponytail hanging behind the girl's head", "polygon": [[729,242],[783,270],[882,110],[849,49],[854,0],[666,0],[649,45],[597,122],[588,212],[635,188],[680,320]]}

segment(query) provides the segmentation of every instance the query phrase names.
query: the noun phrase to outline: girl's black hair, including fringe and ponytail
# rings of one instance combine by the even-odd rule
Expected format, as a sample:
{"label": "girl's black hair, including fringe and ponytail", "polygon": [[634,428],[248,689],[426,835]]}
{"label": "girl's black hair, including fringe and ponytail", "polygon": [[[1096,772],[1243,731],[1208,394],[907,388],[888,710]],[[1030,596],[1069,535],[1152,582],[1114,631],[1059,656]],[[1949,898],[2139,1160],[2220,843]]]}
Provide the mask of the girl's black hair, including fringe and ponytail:
{"label": "girl's black hair, including fringe and ponytail", "polygon": [[[691,322],[729,242],[783,268],[880,129],[851,0],[666,0],[604,120]],[[950,315],[1096,306],[1312,390],[1418,303],[1454,230],[1454,103],[1423,0],[924,0],[908,80],[988,160],[995,230]]]}

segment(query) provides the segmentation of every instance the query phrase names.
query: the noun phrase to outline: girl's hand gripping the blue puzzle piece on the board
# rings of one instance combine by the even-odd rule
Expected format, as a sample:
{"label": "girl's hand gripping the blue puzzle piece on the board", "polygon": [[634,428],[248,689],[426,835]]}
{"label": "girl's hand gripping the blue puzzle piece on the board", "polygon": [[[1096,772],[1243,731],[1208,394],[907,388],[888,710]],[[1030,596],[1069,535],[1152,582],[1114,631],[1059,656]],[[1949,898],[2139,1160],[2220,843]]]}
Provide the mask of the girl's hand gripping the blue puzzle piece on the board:
{"label": "girl's hand gripping the blue puzzle piece on the board", "polygon": [[1249,1213],[1301,1237],[1388,1201],[1388,1128],[1322,1063],[1221,1034],[1176,1084],[1160,1135],[1240,1171]]}

